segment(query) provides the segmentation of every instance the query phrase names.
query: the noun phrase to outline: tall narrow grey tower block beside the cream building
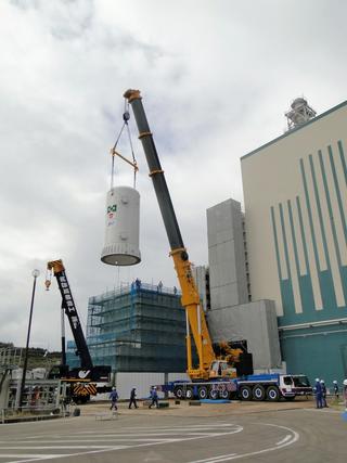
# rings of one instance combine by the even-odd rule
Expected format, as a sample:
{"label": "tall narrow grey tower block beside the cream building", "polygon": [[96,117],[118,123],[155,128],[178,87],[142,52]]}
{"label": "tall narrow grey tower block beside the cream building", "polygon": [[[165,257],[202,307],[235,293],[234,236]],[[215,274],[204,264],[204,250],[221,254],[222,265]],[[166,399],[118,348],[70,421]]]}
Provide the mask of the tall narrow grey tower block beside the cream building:
{"label": "tall narrow grey tower block beside the cream building", "polygon": [[241,204],[227,200],[207,209],[211,310],[248,301]]}

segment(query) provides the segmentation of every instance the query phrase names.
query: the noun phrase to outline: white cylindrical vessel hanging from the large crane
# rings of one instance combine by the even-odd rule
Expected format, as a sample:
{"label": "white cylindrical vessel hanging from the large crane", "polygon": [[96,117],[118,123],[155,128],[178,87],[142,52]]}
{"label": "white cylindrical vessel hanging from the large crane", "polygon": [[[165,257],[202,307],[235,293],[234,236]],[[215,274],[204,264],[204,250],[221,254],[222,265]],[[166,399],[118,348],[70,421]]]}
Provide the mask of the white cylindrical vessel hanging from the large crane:
{"label": "white cylindrical vessel hanging from the large crane", "polygon": [[101,260],[110,266],[134,266],[141,261],[139,249],[140,194],[130,187],[108,191],[106,201],[105,246]]}

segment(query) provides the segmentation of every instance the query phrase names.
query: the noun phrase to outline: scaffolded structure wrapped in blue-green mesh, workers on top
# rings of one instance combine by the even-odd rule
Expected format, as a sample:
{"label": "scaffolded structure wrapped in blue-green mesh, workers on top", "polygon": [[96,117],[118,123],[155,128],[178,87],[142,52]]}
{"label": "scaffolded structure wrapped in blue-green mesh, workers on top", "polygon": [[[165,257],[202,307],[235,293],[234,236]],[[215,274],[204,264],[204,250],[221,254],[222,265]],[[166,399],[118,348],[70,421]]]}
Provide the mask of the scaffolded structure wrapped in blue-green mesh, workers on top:
{"label": "scaffolded structure wrapped in blue-green mesh, workers on top", "polygon": [[184,372],[185,312],[176,287],[132,283],[90,297],[87,343],[116,372]]}

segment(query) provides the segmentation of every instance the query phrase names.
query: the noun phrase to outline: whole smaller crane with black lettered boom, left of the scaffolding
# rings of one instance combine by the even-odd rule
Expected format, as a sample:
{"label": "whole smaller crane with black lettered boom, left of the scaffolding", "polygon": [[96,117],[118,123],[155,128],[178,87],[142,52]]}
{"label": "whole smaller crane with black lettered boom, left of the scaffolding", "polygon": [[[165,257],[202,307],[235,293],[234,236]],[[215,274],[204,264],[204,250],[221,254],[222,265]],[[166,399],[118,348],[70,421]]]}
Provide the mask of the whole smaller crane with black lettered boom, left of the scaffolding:
{"label": "whole smaller crane with black lettered boom, left of the scaffolding", "polygon": [[65,338],[62,337],[62,364],[53,366],[50,371],[50,378],[61,378],[70,385],[70,396],[74,401],[87,402],[90,396],[98,393],[111,390],[111,366],[93,365],[87,342],[81,329],[76,305],[65,273],[62,260],[52,260],[47,265],[48,276],[46,288],[51,285],[52,274],[56,278],[59,290],[62,295],[62,310],[67,316],[69,326],[76,344],[76,355],[80,359],[80,368],[69,370],[65,359]]}

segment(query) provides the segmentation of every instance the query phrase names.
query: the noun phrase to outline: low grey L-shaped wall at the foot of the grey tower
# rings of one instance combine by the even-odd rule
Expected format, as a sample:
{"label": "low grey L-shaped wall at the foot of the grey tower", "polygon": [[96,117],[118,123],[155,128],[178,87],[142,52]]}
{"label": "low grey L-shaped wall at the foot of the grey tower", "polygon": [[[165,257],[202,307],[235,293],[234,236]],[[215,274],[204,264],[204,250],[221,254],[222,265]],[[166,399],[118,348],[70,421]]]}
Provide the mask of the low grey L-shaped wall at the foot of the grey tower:
{"label": "low grey L-shaped wall at the foot of the grey tower", "polygon": [[255,370],[282,366],[273,300],[210,310],[208,326],[214,343],[246,339]]}

